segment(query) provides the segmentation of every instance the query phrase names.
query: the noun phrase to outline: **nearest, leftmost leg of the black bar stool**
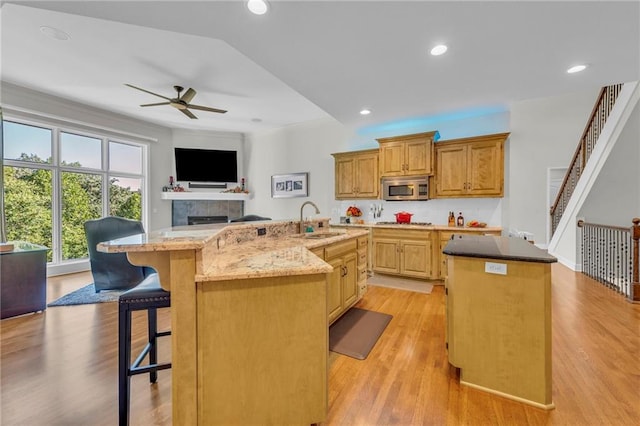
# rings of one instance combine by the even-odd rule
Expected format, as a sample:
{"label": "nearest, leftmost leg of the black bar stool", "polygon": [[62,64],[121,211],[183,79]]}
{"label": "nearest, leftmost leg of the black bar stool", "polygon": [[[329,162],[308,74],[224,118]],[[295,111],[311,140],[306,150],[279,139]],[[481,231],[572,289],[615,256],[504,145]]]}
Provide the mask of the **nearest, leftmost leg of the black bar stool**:
{"label": "nearest, leftmost leg of the black bar stool", "polygon": [[120,304],[118,315],[118,416],[120,426],[129,424],[129,391],[131,377],[131,311]]}

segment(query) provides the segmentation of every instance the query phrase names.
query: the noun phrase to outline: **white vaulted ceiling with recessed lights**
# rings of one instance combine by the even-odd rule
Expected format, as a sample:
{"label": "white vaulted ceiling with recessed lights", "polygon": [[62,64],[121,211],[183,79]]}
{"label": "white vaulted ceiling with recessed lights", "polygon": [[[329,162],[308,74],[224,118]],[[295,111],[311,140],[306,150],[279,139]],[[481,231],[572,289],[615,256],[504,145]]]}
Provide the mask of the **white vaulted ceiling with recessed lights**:
{"label": "white vaulted ceiling with recessed lights", "polygon": [[[2,80],[172,128],[355,128],[640,80],[640,2],[4,1]],[[57,40],[43,30],[66,33]],[[449,50],[431,56],[445,43]],[[566,70],[577,63],[588,68]],[[193,87],[192,120],[166,97]],[[363,108],[371,109],[361,116]]]}

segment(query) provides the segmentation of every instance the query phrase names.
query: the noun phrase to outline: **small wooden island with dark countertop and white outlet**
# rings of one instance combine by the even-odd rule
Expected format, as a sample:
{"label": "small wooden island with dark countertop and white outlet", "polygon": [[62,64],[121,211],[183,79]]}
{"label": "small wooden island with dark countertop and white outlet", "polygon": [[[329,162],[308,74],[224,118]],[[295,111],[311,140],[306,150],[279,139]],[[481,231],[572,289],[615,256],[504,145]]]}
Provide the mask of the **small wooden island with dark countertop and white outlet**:
{"label": "small wooden island with dark countertop and white outlet", "polygon": [[520,238],[457,236],[447,255],[446,339],[460,382],[543,409],[551,395],[551,263]]}

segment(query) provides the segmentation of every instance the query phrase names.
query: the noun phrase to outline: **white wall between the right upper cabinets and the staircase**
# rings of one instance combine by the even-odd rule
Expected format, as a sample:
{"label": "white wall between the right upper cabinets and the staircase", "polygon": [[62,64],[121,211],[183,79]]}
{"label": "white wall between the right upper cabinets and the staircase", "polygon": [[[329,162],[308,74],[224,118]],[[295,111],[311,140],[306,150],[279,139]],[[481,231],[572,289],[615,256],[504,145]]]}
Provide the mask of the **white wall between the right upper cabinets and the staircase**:
{"label": "white wall between the right upper cabinets and the staircase", "polygon": [[508,191],[503,227],[547,241],[547,170],[567,167],[593,109],[600,88],[511,105]]}

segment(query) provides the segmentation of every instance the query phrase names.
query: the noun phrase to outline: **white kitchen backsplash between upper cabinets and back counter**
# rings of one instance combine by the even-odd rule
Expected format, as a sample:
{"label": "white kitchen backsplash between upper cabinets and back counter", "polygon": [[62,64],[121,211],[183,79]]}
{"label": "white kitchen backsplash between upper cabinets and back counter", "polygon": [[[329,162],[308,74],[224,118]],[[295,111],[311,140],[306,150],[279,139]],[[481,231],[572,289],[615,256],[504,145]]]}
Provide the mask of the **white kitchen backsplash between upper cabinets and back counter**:
{"label": "white kitchen backsplash between upper cabinets and back counter", "polygon": [[[502,226],[501,198],[450,198],[428,201],[382,201],[352,200],[336,201],[331,209],[331,223],[339,223],[341,216],[346,216],[349,206],[356,206],[362,211],[359,219],[365,222],[395,221],[395,213],[406,211],[413,213],[412,222],[431,222],[434,225],[446,225],[449,212],[456,218],[462,212],[465,223],[471,220],[486,222],[489,226]],[[371,206],[382,206],[379,218],[374,218]]]}

